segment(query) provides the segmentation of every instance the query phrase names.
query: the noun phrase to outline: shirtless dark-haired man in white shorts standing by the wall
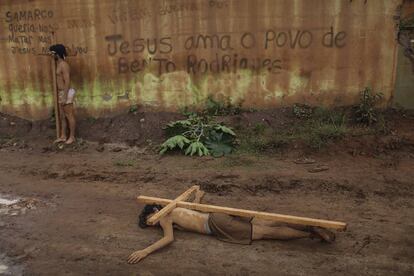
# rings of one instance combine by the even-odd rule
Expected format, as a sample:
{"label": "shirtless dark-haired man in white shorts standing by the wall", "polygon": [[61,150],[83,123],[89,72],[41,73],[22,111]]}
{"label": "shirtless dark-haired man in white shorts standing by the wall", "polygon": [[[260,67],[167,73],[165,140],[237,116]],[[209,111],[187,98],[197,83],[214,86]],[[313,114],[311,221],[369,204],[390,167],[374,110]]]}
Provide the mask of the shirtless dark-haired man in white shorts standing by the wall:
{"label": "shirtless dark-haired man in white shorts standing by the wall", "polygon": [[[66,49],[62,44],[52,45],[49,51],[54,55],[56,60],[56,82],[58,90],[59,112],[61,114],[62,127],[59,138],[55,143],[65,142],[72,144],[75,142],[75,114],[73,110],[73,99],[75,90],[70,86],[70,67],[66,62]],[[69,125],[69,139],[67,139],[67,125]]]}

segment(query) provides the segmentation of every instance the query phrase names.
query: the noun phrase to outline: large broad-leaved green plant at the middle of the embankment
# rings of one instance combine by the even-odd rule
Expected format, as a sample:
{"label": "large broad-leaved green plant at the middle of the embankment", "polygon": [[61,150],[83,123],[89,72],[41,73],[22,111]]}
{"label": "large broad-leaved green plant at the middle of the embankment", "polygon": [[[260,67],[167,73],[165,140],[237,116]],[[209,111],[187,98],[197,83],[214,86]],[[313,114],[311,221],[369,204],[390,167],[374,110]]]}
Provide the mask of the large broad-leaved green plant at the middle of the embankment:
{"label": "large broad-leaved green plant at the middle of the embankment", "polygon": [[167,124],[165,131],[169,138],[161,144],[160,154],[179,150],[185,155],[219,157],[231,153],[235,145],[236,134],[231,128],[195,113]]}

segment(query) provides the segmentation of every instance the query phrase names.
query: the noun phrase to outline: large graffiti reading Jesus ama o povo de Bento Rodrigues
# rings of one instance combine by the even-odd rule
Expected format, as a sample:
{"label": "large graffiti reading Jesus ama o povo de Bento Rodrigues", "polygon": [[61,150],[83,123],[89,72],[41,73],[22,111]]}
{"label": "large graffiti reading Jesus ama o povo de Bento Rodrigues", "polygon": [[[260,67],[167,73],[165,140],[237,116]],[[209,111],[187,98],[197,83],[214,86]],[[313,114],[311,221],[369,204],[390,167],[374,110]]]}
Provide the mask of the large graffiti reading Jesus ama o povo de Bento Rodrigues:
{"label": "large graffiti reading Jesus ama o povo de Bento Rodrigues", "polygon": [[[158,75],[184,70],[190,75],[207,73],[231,73],[249,69],[253,72],[266,70],[278,74],[283,61],[278,50],[304,50],[314,44],[326,48],[343,48],[346,32],[336,31],[333,26],[319,34],[310,30],[267,30],[263,33],[241,34],[192,34],[178,40],[172,36],[160,38],[136,37],[127,39],[123,34],[105,36],[106,52],[116,57],[119,74],[138,73],[154,68]],[[249,51],[261,50],[263,55],[254,57]],[[214,54],[206,58],[201,51]],[[172,60],[174,53],[188,53],[180,60]],[[198,54],[200,52],[200,54]],[[276,54],[275,54],[276,53]],[[139,57],[137,57],[139,56]],[[211,55],[208,55],[211,56]],[[253,56],[253,57],[252,57]],[[181,57],[181,55],[180,55]]]}

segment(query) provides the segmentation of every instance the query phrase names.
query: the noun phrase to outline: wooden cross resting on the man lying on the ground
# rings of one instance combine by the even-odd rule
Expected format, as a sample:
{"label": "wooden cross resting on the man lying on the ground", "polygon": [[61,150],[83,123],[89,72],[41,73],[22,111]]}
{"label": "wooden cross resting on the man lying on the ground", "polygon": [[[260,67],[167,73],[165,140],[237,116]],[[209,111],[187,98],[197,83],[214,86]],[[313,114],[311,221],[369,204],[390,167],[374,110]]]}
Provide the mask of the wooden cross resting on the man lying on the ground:
{"label": "wooden cross resting on the man lying on the ground", "polygon": [[194,191],[199,190],[199,186],[193,186],[184,193],[182,193],[179,197],[174,200],[164,199],[164,198],[157,198],[157,197],[149,197],[149,196],[138,196],[138,202],[143,204],[159,204],[163,207],[158,213],[153,215],[151,218],[148,219],[148,223],[151,225],[156,224],[162,217],[168,215],[174,208],[181,207],[187,208],[191,210],[196,210],[204,213],[224,213],[233,216],[239,217],[249,217],[249,218],[258,218],[264,220],[270,220],[274,222],[284,222],[290,224],[297,224],[297,225],[306,225],[306,226],[319,226],[323,228],[330,228],[335,230],[345,230],[347,224],[340,221],[331,221],[331,220],[323,220],[323,219],[313,219],[313,218],[306,218],[306,217],[297,217],[297,216],[289,216],[289,215],[281,215],[276,213],[267,213],[267,212],[258,212],[258,211],[250,211],[250,210],[243,210],[243,209],[236,209],[236,208],[229,208],[229,207],[221,207],[215,205],[207,205],[207,204],[199,204],[199,203],[191,203],[185,202]]}

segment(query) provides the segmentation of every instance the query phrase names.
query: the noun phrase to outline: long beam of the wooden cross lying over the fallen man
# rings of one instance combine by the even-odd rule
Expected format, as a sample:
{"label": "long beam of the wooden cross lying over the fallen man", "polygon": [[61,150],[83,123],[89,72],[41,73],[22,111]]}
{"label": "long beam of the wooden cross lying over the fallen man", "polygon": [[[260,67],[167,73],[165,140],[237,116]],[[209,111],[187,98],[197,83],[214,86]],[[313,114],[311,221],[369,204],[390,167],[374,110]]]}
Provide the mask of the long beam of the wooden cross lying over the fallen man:
{"label": "long beam of the wooden cross lying over the fallen man", "polygon": [[[139,196],[137,199],[138,199],[138,202],[144,203],[144,204],[168,205],[169,203],[173,202],[173,200],[170,200],[170,199],[163,199],[163,198],[149,197],[149,196]],[[215,206],[215,205],[198,204],[198,203],[190,203],[190,202],[183,202],[183,201],[178,201],[178,202],[174,201],[174,204],[176,205],[176,207],[187,208],[187,209],[196,210],[196,211],[205,212],[205,213],[212,213],[212,212],[224,213],[224,214],[233,215],[233,216],[258,218],[258,219],[263,219],[263,220],[291,223],[291,224],[297,224],[297,225],[319,226],[319,227],[330,228],[330,229],[335,229],[335,230],[345,230],[347,226],[346,223],[340,222],[340,221],[313,219],[313,218],[281,215],[281,214],[267,213],[267,212],[257,212],[257,211],[221,207],[221,206]]]}

